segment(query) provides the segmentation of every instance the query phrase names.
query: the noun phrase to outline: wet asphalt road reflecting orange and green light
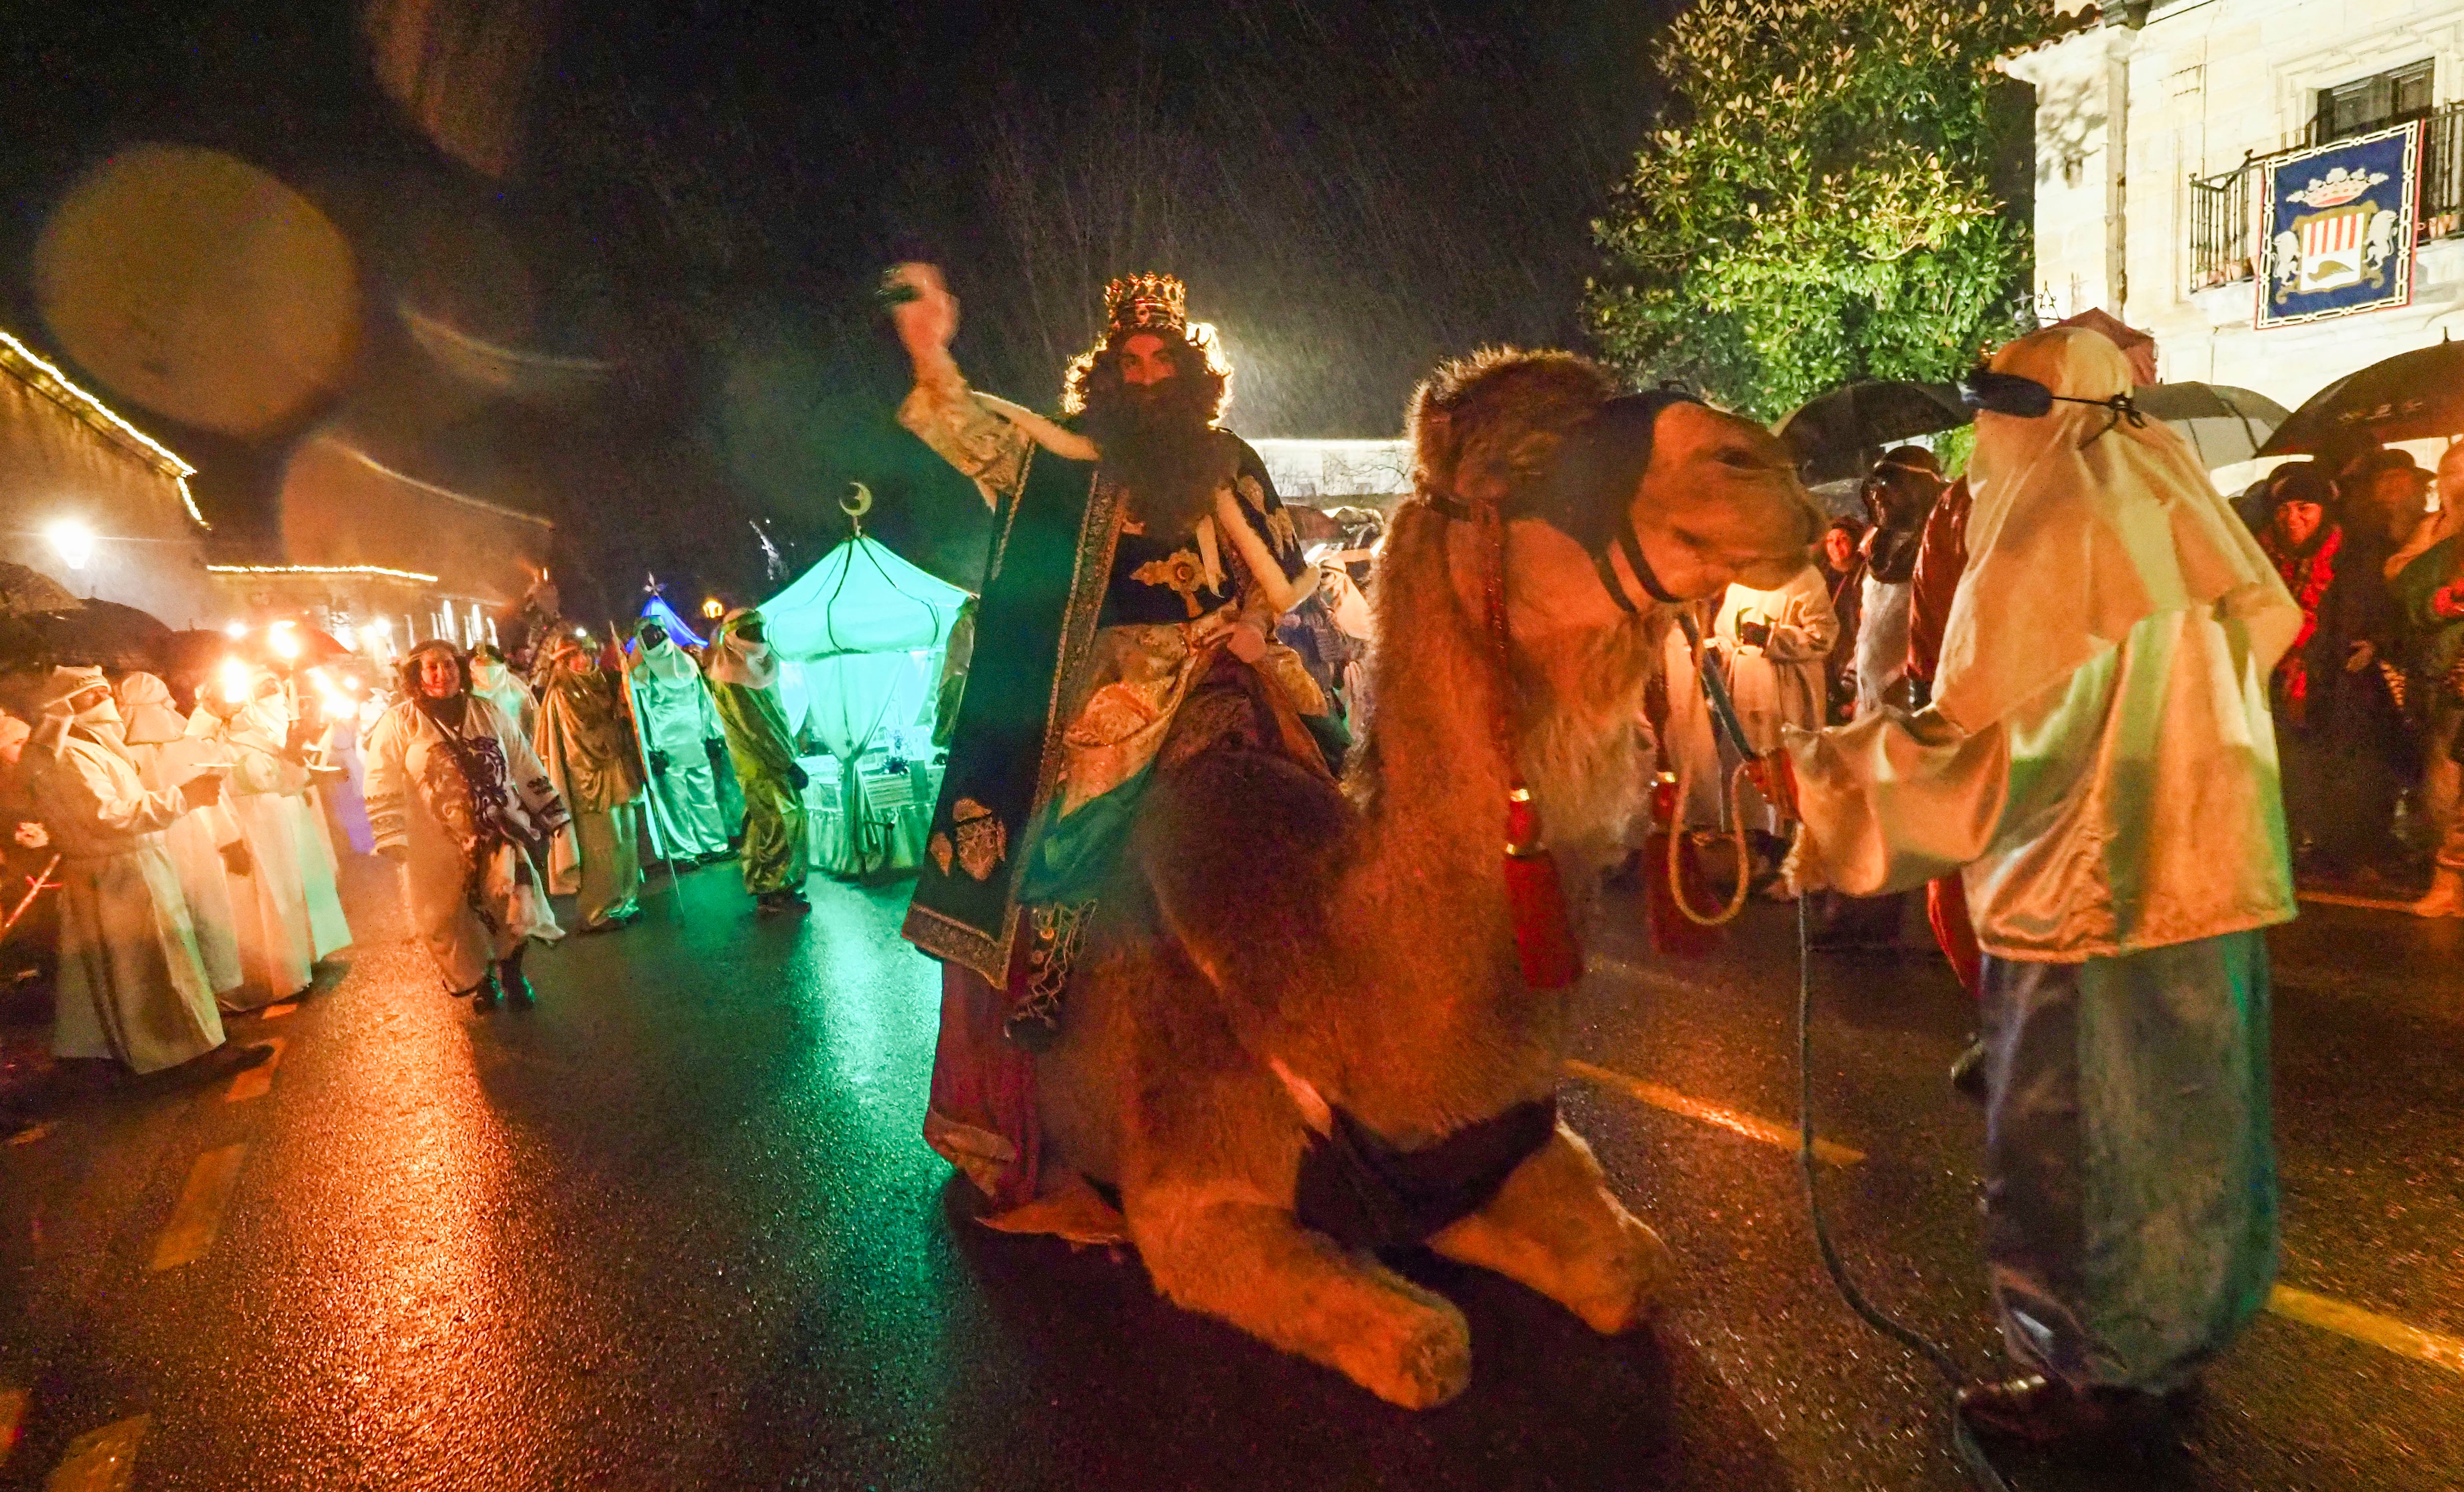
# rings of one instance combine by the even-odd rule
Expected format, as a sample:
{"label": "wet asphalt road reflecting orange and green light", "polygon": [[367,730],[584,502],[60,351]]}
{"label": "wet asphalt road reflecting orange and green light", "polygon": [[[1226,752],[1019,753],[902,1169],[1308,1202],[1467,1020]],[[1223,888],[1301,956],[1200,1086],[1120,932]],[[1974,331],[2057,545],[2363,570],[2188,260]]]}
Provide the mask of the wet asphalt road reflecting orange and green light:
{"label": "wet asphalt road reflecting orange and green light", "polygon": [[[261,1095],[10,1125],[0,1487],[1961,1487],[1929,1369],[1831,1295],[1791,1154],[1666,1107],[1794,1117],[1784,908],[1695,964],[1609,935],[1582,991],[1574,1055],[1614,1080],[1572,1078],[1567,1115],[1688,1295],[1602,1342],[1409,1263],[1476,1351],[1409,1416],[1163,1307],[1129,1258],[966,1221],[917,1139],[936,974],[902,888],[816,880],[811,920],[756,920],[700,871],[532,957],[540,1009],[473,1016],[382,868],[350,878],[347,972],[232,1026],[283,1043]],[[1818,964],[1821,1127],[1863,1154],[1823,1181],[1850,1268],[1984,1369],[1984,1125],[1942,1080],[1969,1023],[1907,945]],[[2314,908],[2274,952],[2284,1282],[2464,1339],[2464,922]],[[2269,1314],[2181,1455],[2008,1470],[2459,1487],[2464,1359]]]}

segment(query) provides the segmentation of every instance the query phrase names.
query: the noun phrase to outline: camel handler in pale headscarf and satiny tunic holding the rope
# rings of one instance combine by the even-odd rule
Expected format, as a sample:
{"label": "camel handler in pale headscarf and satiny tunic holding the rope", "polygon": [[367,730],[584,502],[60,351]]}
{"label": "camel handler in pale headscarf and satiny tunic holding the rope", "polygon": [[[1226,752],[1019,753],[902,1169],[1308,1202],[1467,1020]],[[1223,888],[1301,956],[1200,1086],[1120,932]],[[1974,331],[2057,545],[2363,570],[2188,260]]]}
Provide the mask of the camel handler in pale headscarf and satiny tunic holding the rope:
{"label": "camel handler in pale headscarf and satiny tunic holding the rope", "polygon": [[1971,387],[1934,703],[1791,730],[1759,772],[1809,885],[1964,868],[1988,1285],[2023,1376],[1961,1413],[2156,1433],[2277,1273],[2262,930],[2294,893],[2267,676],[2301,612],[2109,340],[2033,333]]}

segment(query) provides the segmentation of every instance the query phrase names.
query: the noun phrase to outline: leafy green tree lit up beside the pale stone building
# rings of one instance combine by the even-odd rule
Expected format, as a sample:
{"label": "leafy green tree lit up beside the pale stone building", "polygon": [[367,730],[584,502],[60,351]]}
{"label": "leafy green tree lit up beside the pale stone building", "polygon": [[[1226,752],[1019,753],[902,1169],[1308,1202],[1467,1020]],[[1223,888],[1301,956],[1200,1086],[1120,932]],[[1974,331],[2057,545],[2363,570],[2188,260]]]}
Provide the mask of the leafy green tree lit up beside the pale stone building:
{"label": "leafy green tree lit up beside the pale stone building", "polygon": [[1949,377],[2020,328],[2025,138],[1991,62],[2053,0],[1700,0],[1653,49],[1671,118],[1594,237],[1604,355],[1777,417],[1855,377]]}

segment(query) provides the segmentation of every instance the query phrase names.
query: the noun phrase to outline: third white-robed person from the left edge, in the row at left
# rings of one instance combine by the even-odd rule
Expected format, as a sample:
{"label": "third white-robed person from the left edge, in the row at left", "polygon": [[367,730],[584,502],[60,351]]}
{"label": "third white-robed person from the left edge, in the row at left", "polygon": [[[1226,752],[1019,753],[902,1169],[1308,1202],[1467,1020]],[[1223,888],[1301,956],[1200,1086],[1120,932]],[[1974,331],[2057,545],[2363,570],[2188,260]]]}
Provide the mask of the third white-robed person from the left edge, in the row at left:
{"label": "third white-robed person from the left edge, in the row at left", "polygon": [[301,875],[298,821],[286,789],[303,779],[298,762],[281,755],[281,735],[266,730],[256,691],[271,676],[246,663],[227,663],[197,691],[187,718],[190,740],[229,762],[229,809],[249,851],[249,871],[229,875],[232,930],[239,942],[239,989],[224,991],[222,1009],[254,1011],[308,989],[315,977],[315,925]]}

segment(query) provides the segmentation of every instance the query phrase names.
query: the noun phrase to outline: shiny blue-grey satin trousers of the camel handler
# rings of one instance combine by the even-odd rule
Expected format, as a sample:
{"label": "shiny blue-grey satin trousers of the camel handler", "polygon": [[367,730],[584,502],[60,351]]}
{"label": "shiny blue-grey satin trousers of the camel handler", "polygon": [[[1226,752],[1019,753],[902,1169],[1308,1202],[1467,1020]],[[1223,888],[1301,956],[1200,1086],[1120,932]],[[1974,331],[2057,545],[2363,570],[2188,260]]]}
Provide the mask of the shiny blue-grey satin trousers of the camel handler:
{"label": "shiny blue-grey satin trousers of the camel handler", "polygon": [[1986,1260],[2003,1342],[2072,1386],[2163,1393],[2277,1277],[2267,942],[1986,957]]}

